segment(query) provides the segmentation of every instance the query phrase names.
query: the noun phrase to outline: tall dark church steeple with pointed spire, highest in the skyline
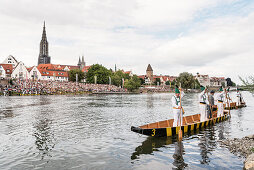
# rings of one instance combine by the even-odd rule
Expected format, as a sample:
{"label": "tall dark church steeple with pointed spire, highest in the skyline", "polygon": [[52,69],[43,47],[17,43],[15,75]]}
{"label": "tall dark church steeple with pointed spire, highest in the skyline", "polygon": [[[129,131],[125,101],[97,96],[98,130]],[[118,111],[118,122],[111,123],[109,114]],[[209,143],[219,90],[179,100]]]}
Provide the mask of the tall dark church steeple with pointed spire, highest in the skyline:
{"label": "tall dark church steeple with pointed spire, highest in the skyline", "polygon": [[42,39],[40,42],[40,54],[38,57],[38,65],[39,64],[50,64],[50,56],[48,53],[49,53],[48,41],[47,41],[46,27],[45,27],[45,21],[44,21]]}

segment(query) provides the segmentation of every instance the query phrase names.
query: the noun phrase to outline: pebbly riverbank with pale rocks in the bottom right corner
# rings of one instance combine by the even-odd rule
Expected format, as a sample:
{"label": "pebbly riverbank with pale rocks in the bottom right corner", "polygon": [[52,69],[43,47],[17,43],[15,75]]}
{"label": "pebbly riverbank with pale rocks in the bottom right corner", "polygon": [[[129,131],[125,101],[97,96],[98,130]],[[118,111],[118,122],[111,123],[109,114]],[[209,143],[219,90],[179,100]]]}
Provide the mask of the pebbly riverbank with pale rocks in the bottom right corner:
{"label": "pebbly riverbank with pale rocks in the bottom right corner", "polygon": [[244,168],[254,170],[254,134],[243,138],[225,139],[221,141],[233,154],[246,158]]}

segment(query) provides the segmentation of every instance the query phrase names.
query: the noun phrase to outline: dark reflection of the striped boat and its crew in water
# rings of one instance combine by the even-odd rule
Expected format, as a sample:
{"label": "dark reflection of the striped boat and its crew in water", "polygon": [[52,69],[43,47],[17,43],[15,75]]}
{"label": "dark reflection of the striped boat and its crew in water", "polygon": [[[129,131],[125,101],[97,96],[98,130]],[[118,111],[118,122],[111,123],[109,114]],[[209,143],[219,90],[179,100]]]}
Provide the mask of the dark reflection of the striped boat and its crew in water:
{"label": "dark reflection of the striped boat and its crew in water", "polygon": [[[223,124],[219,127],[219,135],[224,137],[224,131],[221,130],[224,128]],[[216,127],[210,126],[207,128],[202,128],[200,131],[192,132],[189,135],[185,135],[183,141],[178,141],[175,137],[148,137],[142,145],[138,146],[135,149],[135,152],[132,153],[131,159],[139,159],[139,156],[142,154],[152,154],[155,151],[161,151],[159,148],[167,148],[170,152],[170,148],[174,147],[173,154],[173,169],[184,169],[188,167],[186,160],[184,160],[185,149],[184,144],[188,145],[190,140],[198,138],[197,147],[199,148],[200,153],[200,164],[209,165],[211,161],[212,152],[217,148],[217,137],[216,137]],[[168,158],[170,160],[170,158]]]}

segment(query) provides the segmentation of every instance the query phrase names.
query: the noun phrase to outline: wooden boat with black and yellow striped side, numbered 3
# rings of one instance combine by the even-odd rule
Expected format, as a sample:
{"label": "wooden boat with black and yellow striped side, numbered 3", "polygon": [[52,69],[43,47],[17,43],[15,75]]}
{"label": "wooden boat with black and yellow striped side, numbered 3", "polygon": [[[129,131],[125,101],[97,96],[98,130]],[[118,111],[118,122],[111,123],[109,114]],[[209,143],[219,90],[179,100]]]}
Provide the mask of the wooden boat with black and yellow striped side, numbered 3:
{"label": "wooden boat with black and yellow striped side, numbered 3", "polygon": [[[214,125],[215,123],[222,122],[229,118],[229,111],[225,110],[224,115],[207,121],[200,122],[200,114],[183,117],[183,125],[181,126],[183,134],[188,134],[191,131],[197,131],[202,127]],[[173,127],[174,119],[164,120],[156,123],[150,123],[139,127],[131,127],[131,131],[140,133],[147,136],[175,136],[180,130],[180,126]]]}

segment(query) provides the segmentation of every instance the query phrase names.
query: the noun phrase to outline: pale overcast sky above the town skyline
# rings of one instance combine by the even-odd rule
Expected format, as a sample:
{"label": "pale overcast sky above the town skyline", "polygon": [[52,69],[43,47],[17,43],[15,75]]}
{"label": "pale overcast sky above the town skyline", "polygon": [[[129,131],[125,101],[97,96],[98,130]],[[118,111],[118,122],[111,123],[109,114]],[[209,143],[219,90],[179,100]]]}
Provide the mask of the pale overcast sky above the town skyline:
{"label": "pale overcast sky above the town skyline", "polygon": [[1,0],[0,60],[36,65],[44,20],[53,64],[253,75],[253,0]]}

